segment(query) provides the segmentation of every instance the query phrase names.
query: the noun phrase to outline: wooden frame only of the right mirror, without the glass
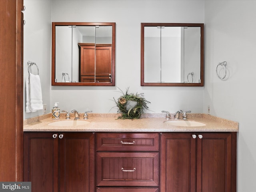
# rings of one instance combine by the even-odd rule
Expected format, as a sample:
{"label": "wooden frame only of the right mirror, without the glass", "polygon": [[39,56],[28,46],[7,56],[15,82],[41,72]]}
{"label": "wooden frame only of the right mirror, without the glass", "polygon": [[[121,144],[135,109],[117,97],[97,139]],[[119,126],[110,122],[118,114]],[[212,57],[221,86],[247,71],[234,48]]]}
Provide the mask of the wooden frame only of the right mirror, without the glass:
{"label": "wooden frame only of the right mirror, without the glass", "polygon": [[[144,82],[144,27],[145,26],[188,26],[201,28],[200,83],[145,83]],[[202,23],[141,23],[140,85],[141,86],[204,86],[204,24]]]}

